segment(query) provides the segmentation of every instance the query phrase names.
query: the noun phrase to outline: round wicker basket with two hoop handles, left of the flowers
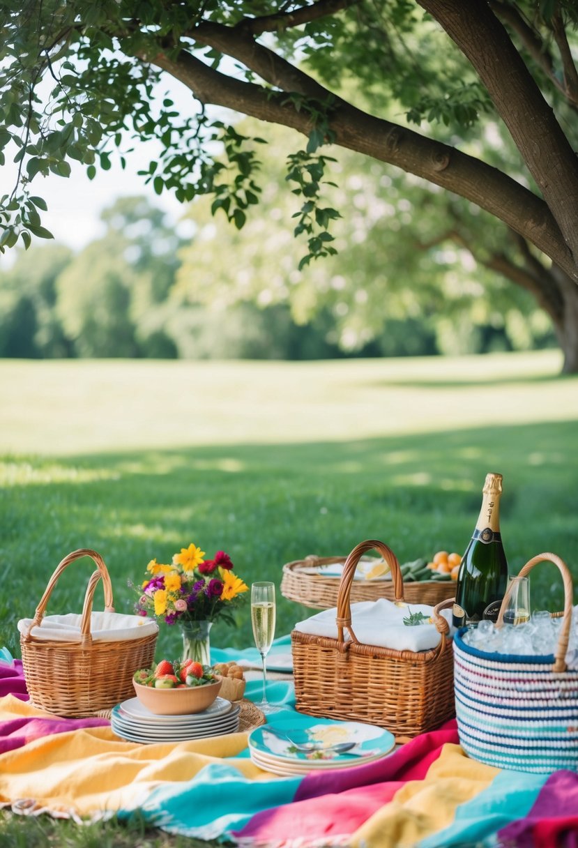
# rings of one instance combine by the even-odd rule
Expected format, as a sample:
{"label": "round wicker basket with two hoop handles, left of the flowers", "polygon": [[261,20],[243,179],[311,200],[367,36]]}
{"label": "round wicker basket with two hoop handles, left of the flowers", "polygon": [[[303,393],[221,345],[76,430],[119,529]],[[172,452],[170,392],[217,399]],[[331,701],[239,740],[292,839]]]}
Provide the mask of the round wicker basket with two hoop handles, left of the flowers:
{"label": "round wicker basket with two hoop handles, left of the flowers", "polygon": [[[31,633],[42,626],[48,599],[58,577],[72,562],[90,556],[97,566],[86,587],[80,622],[80,639],[62,641],[46,639]],[[92,639],[92,600],[97,583],[102,579],[105,613],[111,622],[111,640]],[[88,717],[102,713],[135,692],[132,676],[137,668],[153,664],[158,625],[129,629],[129,638],[114,639],[113,590],[103,558],[94,550],[75,550],[64,557],[36,607],[36,614],[24,632],[20,631],[20,648],[26,686],[34,706],[65,717]],[[118,616],[125,622],[127,617]],[[141,619],[142,622],[142,619]],[[23,622],[19,622],[22,624]],[[132,635],[134,629],[134,635]],[[124,631],[126,636],[126,631]]]}

